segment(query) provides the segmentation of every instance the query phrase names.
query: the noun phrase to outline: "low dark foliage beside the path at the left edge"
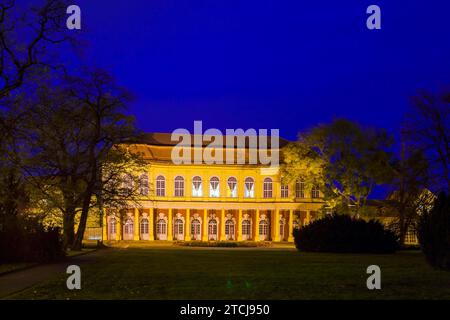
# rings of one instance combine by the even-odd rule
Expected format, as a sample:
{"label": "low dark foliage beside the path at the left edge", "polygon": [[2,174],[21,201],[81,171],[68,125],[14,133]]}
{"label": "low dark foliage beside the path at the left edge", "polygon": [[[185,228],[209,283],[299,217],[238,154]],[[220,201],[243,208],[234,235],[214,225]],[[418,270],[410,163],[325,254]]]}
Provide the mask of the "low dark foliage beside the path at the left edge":
{"label": "low dark foliage beside the path at the left edge", "polygon": [[64,257],[59,228],[26,221],[8,223],[0,231],[0,262],[54,262]]}

